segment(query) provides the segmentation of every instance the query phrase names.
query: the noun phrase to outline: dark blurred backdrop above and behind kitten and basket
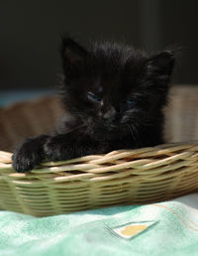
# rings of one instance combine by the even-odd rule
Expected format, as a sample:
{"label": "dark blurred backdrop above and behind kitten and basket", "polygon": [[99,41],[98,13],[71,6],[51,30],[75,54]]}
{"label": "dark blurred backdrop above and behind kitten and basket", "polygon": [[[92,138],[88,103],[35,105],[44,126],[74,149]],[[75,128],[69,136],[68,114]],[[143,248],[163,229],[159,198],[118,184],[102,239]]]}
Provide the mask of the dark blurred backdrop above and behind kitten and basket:
{"label": "dark blurred backdrop above and behind kitten and basket", "polygon": [[198,1],[20,0],[0,3],[0,94],[54,87],[60,37],[113,39],[136,48],[183,47],[174,83],[198,83]]}

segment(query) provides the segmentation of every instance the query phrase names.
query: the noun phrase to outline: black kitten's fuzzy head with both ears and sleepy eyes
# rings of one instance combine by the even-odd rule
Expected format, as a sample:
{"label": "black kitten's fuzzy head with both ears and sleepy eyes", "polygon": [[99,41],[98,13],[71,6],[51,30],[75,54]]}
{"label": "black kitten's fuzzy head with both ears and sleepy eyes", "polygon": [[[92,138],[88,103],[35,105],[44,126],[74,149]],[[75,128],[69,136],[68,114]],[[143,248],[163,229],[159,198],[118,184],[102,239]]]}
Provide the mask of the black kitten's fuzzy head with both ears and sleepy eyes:
{"label": "black kitten's fuzzy head with both ears and sleepy eyes", "polygon": [[87,51],[69,38],[61,48],[63,103],[91,126],[107,130],[151,125],[166,102],[174,54],[147,55],[132,47],[94,44]]}

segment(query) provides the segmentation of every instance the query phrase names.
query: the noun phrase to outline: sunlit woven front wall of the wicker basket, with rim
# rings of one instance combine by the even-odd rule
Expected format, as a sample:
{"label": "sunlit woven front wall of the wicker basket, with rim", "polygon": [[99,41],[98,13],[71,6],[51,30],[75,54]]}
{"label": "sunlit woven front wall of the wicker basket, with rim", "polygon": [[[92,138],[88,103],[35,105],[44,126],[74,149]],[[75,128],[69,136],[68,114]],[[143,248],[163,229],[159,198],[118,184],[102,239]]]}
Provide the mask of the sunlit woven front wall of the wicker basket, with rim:
{"label": "sunlit woven front wall of the wicker basket, with rim", "polygon": [[0,205],[36,216],[149,203],[198,190],[198,143],[119,150],[13,173],[0,154]]}

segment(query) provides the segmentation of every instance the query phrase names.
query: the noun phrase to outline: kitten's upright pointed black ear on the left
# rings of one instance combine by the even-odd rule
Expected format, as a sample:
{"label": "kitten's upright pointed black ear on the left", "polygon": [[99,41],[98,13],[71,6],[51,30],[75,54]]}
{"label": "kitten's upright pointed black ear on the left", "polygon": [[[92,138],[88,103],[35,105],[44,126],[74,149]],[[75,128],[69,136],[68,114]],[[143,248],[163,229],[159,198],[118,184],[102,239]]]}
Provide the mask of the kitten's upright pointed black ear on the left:
{"label": "kitten's upright pointed black ear on the left", "polygon": [[61,58],[64,72],[69,77],[77,77],[83,72],[88,52],[68,37],[62,39]]}

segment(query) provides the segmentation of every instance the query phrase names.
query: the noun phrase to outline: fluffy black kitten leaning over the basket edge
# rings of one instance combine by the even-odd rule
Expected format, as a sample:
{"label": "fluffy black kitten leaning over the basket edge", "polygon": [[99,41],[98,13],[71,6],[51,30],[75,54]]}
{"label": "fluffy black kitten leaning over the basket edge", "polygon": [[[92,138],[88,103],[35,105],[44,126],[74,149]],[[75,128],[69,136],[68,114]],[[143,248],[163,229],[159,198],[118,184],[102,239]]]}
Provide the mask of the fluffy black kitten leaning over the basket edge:
{"label": "fluffy black kitten leaning over the basket edge", "polygon": [[146,55],[117,44],[87,51],[62,41],[62,102],[67,113],[53,136],[27,139],[13,156],[19,173],[43,160],[67,160],[161,144],[171,51]]}

